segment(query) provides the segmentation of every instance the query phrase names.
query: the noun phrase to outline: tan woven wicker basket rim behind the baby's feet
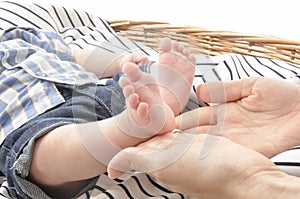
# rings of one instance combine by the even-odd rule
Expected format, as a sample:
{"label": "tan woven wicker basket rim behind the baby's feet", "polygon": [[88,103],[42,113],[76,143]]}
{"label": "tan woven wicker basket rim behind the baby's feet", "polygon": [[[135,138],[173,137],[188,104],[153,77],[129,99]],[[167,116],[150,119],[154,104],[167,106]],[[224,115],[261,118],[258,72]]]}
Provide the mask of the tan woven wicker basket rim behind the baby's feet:
{"label": "tan woven wicker basket rim behind the baby's feet", "polygon": [[194,53],[239,53],[300,64],[300,42],[278,37],[213,31],[165,22],[118,20],[109,23],[118,34],[154,49],[160,38],[169,37],[183,42]]}

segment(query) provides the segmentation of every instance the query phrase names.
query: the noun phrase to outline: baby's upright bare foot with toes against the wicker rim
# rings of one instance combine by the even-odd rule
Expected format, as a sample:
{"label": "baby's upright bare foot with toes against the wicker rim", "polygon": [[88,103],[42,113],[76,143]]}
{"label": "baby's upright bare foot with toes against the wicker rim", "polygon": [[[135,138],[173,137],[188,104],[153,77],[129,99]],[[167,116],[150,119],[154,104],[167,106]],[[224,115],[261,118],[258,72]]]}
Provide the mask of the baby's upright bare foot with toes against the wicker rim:
{"label": "baby's upright bare foot with toes against the wicker rim", "polygon": [[196,58],[184,46],[168,38],[161,41],[159,48],[156,79],[160,84],[163,100],[178,115],[189,98]]}

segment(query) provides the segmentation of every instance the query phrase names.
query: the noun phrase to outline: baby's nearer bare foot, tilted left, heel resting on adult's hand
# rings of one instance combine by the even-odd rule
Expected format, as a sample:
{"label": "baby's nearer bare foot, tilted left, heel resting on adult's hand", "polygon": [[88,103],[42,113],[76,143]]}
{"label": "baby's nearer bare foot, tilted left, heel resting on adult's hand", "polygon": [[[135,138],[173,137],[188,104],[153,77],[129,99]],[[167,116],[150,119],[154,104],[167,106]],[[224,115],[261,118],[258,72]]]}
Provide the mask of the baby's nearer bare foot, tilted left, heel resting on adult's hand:
{"label": "baby's nearer bare foot, tilted left, heel resting on adult's hand", "polygon": [[138,138],[172,131],[175,125],[174,113],[162,99],[155,78],[142,72],[134,63],[125,64],[122,71],[125,77],[120,79],[119,84],[127,104],[127,124],[122,130]]}

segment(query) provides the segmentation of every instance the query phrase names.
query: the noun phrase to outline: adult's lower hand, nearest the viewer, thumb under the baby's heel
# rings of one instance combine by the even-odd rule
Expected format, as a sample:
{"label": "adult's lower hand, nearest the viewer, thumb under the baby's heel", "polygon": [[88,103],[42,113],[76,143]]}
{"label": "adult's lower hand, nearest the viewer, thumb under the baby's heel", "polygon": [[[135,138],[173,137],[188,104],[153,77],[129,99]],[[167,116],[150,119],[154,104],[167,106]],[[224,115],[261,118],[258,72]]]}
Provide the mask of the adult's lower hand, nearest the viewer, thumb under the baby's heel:
{"label": "adult's lower hand, nearest the viewer, thumb under the baby's heel", "polygon": [[[207,142],[214,143],[214,147],[206,148],[211,146]],[[280,187],[283,190],[276,187],[273,192],[269,182],[279,179],[285,182],[289,178],[258,152],[224,137],[190,133],[156,136],[121,151],[108,165],[112,178],[132,170],[149,173],[173,191],[218,199],[257,198],[264,194],[268,198],[280,198],[284,186]]]}

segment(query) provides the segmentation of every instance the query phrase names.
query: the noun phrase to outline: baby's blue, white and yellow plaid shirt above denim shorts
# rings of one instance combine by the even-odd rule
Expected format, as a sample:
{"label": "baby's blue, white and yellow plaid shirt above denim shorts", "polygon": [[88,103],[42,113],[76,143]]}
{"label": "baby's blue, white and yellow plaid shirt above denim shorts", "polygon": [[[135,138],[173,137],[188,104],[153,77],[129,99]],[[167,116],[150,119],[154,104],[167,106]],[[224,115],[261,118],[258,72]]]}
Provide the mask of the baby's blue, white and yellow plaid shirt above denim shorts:
{"label": "baby's blue, white and yellow plaid shirt above denim shorts", "polygon": [[72,52],[54,32],[12,28],[0,37],[0,143],[30,119],[64,102],[55,87],[95,83],[72,62]]}

